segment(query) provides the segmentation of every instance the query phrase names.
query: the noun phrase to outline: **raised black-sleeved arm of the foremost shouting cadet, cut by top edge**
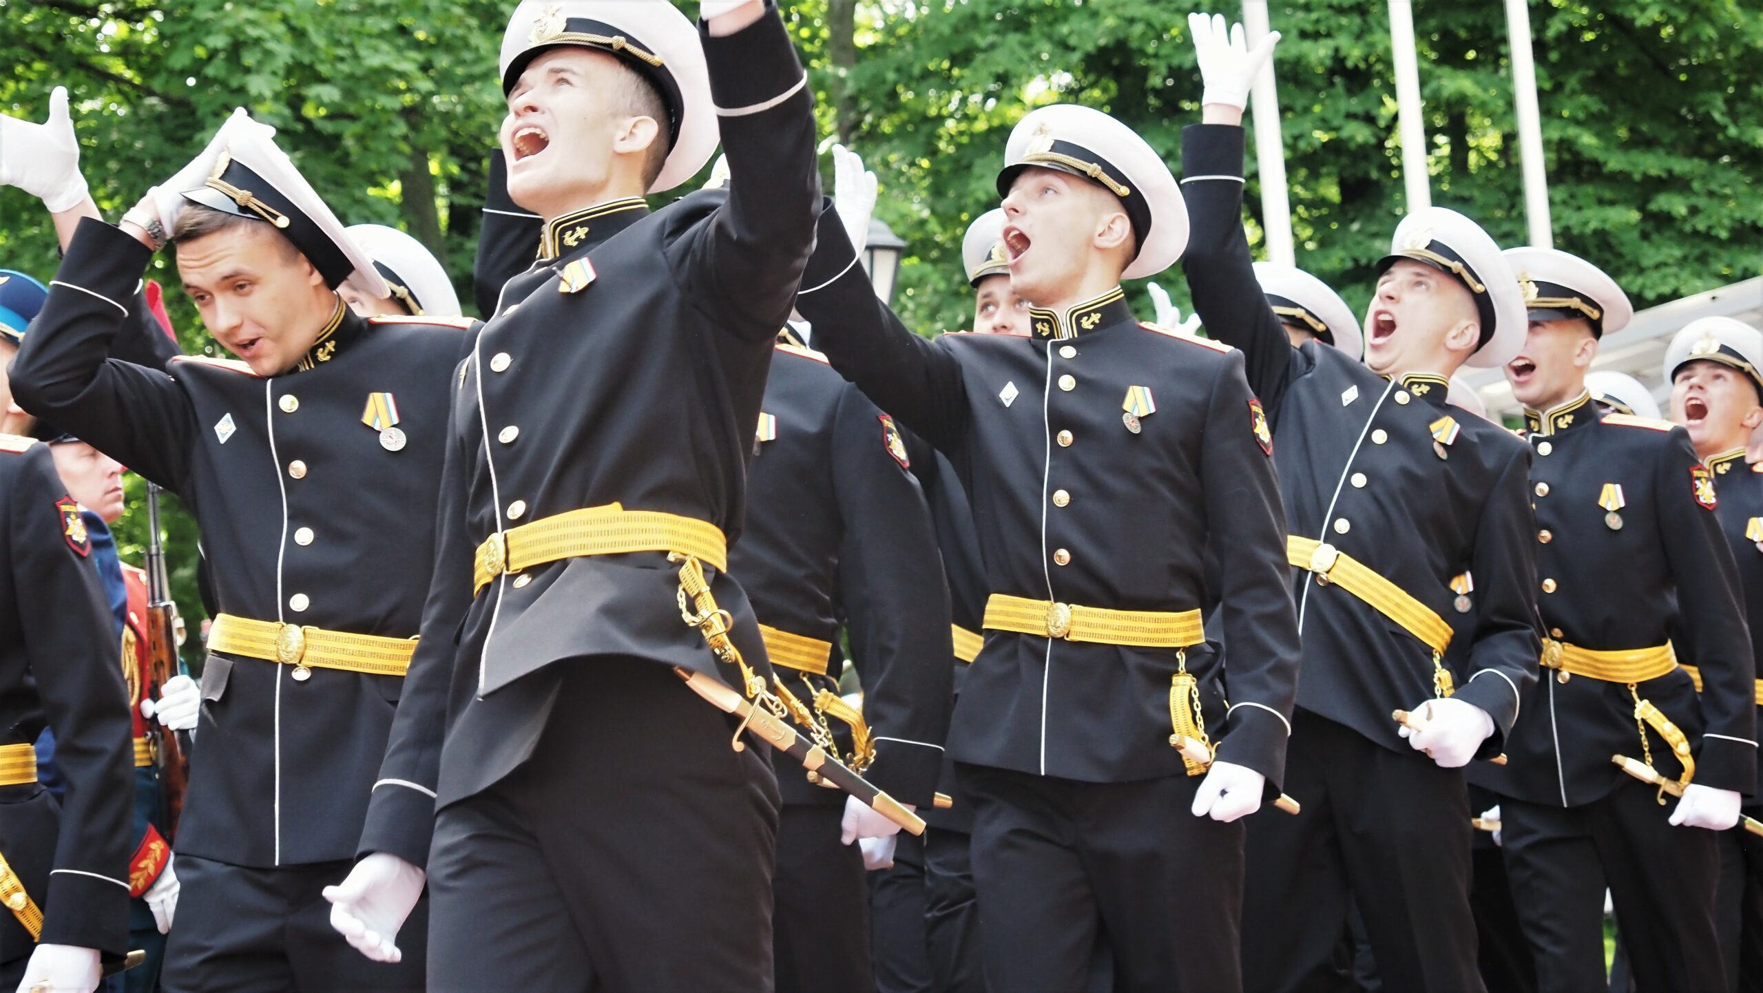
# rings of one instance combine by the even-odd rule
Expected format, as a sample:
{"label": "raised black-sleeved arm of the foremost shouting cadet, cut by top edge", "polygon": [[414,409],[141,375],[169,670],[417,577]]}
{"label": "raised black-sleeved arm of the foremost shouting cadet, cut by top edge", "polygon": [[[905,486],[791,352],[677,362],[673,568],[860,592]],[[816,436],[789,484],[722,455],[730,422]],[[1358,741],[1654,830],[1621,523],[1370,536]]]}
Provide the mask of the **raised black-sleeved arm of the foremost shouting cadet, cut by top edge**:
{"label": "raised black-sleeved arm of the foremost shouting cadet, cut by top edge", "polygon": [[820,171],[813,97],[790,32],[772,0],[737,26],[744,16],[735,9],[700,26],[733,182],[712,219],[668,249],[668,265],[721,326],[763,340],[790,316],[815,245]]}

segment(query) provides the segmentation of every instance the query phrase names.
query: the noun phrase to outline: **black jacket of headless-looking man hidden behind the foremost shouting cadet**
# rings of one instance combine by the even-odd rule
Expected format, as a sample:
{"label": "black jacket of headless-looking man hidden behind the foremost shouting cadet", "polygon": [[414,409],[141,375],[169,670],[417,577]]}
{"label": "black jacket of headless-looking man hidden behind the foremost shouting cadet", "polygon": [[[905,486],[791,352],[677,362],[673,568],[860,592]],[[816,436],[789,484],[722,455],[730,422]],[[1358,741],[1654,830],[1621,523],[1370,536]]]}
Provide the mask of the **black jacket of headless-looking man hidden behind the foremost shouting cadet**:
{"label": "black jacket of headless-looking man hidden behind the foremost shouting cadet", "polygon": [[[876,743],[867,778],[929,808],[948,734],[948,593],[927,573],[936,533],[899,429],[825,356],[788,344],[772,358],[762,420],[728,571],[762,624],[836,646],[843,619]],[[841,660],[834,647],[825,676],[772,667],[813,707],[818,690],[837,693]],[[850,728],[827,723],[850,755]],[[844,803],[795,769],[777,787],[785,803]]]}

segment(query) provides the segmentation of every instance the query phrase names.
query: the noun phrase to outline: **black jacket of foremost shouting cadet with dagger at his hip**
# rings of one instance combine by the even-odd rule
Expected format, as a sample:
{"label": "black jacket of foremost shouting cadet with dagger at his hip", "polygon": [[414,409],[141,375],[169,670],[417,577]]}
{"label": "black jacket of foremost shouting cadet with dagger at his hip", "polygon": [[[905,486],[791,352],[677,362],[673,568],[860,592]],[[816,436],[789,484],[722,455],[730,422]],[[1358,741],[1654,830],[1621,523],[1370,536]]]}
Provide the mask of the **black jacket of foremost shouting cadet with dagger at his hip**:
{"label": "black jacket of foremost shouting cadet with dagger at his hip", "polygon": [[[681,621],[679,566],[665,554],[573,557],[471,589],[480,541],[585,506],[619,503],[716,524],[730,541],[740,534],[746,459],[772,340],[813,247],[820,175],[783,21],[705,34],[703,51],[716,106],[788,93],[721,118],[740,183],[654,213],[628,199],[552,219],[539,261],[502,287],[455,376],[423,610],[430,637],[411,663],[416,698],[398,714],[381,773],[420,788],[376,792],[363,852],[423,864],[434,810],[532,753],[555,700],[555,663],[612,654],[716,672],[703,637]],[[566,270],[573,293],[562,291]],[[504,441],[508,427],[518,436]],[[767,670],[746,594],[714,568],[707,575],[740,654]]]}

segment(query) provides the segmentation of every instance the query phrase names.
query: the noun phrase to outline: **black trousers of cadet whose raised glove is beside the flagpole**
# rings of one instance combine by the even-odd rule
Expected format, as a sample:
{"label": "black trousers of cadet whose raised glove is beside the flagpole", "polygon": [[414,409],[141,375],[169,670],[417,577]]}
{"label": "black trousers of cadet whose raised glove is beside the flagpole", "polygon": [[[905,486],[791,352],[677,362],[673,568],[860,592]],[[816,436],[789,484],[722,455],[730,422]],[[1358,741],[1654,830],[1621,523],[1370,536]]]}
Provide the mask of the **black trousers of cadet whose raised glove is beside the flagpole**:
{"label": "black trousers of cadet whose raised glove is beside the flagpole", "polygon": [[1308,711],[1296,713],[1285,755],[1285,792],[1303,813],[1248,818],[1245,986],[1352,989],[1350,900],[1384,989],[1483,989],[1463,773]]}

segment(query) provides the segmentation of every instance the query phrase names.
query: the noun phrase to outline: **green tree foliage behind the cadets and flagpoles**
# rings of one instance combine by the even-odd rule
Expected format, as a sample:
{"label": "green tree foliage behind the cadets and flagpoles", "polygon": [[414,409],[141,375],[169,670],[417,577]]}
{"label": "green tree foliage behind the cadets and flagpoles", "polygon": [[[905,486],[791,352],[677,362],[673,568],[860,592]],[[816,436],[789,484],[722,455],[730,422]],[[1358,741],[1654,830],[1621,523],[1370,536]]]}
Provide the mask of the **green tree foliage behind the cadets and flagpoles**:
{"label": "green tree foliage behind the cadets and flagpoles", "polygon": [[[1028,108],[1098,106],[1178,168],[1181,127],[1199,116],[1186,11],[1169,0],[781,4],[823,132],[882,178],[878,213],[910,243],[896,302],[924,333],[970,321],[961,235],[996,205],[1003,141]],[[469,300],[510,9],[0,0],[0,62],[12,69],[0,78],[0,113],[41,120],[49,88],[67,85],[93,194],[116,217],[245,106],[280,129],[340,217],[409,229]],[[1218,9],[1236,14],[1236,4]],[[1749,194],[1763,185],[1763,11],[1744,0],[1532,0],[1530,16],[1557,245],[1597,259],[1640,305],[1763,272],[1763,199]],[[1520,243],[1502,5],[1433,0],[1414,18],[1433,201]],[[1271,19],[1285,35],[1276,69],[1298,263],[1359,307],[1403,210],[1384,5],[1275,0]],[[1261,250],[1253,157],[1246,199]],[[48,217],[18,190],[0,190],[0,265],[55,268]],[[171,259],[153,265],[185,347],[213,353]],[[1179,275],[1164,284],[1185,302]],[[141,543],[143,517],[125,519],[125,550]],[[167,520],[175,587],[194,617],[194,527],[182,510]]]}

